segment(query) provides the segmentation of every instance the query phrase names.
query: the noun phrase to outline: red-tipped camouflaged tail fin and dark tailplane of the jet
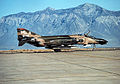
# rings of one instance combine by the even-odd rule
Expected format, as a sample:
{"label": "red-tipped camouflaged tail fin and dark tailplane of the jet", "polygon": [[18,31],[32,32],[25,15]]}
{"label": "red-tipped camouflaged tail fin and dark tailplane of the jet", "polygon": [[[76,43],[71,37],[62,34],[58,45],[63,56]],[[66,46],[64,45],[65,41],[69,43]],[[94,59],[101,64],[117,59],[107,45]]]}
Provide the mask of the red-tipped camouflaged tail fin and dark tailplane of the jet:
{"label": "red-tipped camouflaged tail fin and dark tailplane of the jet", "polygon": [[29,42],[31,38],[34,37],[34,35],[37,35],[24,28],[18,28],[17,34],[18,34],[18,41],[19,41],[18,46],[24,45],[25,43]]}

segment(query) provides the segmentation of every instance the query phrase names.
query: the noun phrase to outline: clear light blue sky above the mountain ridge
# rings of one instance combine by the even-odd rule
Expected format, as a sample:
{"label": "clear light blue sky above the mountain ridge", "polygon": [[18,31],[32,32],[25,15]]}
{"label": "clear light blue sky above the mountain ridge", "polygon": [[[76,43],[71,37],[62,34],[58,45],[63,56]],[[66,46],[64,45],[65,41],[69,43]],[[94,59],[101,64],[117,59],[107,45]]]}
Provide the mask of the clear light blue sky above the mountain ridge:
{"label": "clear light blue sky above the mountain ridge", "polygon": [[19,12],[35,12],[47,7],[72,8],[84,3],[96,4],[112,11],[120,11],[120,0],[0,0],[0,17]]}

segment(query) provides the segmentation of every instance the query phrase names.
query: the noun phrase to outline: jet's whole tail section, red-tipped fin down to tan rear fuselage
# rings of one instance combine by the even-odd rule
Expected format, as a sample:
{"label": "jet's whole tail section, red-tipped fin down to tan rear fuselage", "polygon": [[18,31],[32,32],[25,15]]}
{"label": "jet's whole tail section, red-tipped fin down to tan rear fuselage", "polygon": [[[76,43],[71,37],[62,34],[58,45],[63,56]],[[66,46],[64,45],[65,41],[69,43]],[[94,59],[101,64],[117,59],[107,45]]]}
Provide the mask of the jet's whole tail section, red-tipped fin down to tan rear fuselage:
{"label": "jet's whole tail section, red-tipped fin down to tan rear fuselage", "polygon": [[19,41],[18,46],[22,46],[25,43],[29,43],[29,44],[32,44],[32,45],[37,46],[37,47],[44,45],[43,44],[44,40],[41,38],[40,35],[38,35],[34,32],[31,32],[27,29],[18,28],[17,34],[18,34],[18,41]]}

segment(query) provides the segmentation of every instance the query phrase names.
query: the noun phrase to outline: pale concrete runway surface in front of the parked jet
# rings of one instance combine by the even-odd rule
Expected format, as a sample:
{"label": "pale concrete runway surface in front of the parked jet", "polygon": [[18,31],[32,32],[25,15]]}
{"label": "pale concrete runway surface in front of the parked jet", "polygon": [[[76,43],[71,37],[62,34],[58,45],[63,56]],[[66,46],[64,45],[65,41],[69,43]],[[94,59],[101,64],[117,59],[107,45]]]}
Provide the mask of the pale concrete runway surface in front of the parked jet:
{"label": "pale concrete runway surface in front of the parked jet", "polygon": [[120,84],[120,50],[0,54],[0,84]]}

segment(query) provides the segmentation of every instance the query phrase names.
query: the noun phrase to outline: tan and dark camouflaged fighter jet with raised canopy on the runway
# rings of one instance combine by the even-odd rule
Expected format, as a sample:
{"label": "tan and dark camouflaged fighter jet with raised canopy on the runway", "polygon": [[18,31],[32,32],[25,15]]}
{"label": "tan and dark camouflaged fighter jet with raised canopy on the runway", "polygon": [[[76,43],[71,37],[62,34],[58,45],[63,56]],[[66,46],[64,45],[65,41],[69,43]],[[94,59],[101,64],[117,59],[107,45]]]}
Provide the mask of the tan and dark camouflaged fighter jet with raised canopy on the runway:
{"label": "tan and dark camouflaged fighter jet with raised canopy on the runway", "polygon": [[75,44],[86,46],[88,44],[93,44],[93,50],[95,44],[107,44],[107,40],[95,38],[89,36],[90,31],[84,35],[75,34],[75,35],[56,35],[56,36],[40,36],[34,32],[30,32],[24,28],[17,28],[18,34],[18,46],[22,46],[25,43],[29,43],[36,47],[45,47],[53,49],[55,52],[61,51],[64,48],[71,48]]}

